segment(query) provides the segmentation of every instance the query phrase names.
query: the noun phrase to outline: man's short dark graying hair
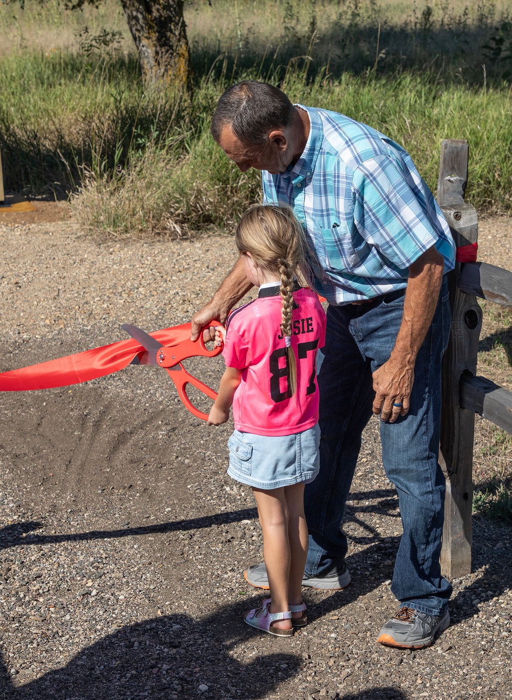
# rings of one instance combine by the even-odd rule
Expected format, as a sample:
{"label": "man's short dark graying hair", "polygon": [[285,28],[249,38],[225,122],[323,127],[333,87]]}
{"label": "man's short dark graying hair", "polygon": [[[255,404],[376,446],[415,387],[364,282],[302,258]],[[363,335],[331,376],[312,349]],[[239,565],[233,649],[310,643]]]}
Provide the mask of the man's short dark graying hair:
{"label": "man's short dark graying hair", "polygon": [[294,107],[282,90],[258,80],[242,80],[228,87],[220,98],[211,122],[211,133],[220,141],[229,125],[247,146],[266,146],[269,133],[292,125]]}

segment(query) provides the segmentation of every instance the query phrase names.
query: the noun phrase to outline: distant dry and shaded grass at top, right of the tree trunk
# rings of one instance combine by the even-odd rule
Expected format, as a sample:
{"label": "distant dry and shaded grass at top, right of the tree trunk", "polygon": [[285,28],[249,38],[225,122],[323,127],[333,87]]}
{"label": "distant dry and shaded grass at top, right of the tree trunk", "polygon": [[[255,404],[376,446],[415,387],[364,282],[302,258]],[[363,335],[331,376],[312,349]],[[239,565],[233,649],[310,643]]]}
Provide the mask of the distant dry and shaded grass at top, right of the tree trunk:
{"label": "distant dry and shaded grass at top, right of the tree trunk", "polygon": [[213,0],[190,3],[185,17],[199,73],[216,60],[217,76],[236,63],[271,77],[305,56],[313,76],[325,66],[336,74],[435,67],[481,83],[484,62],[488,77],[504,62],[512,68],[511,14],[507,0]]}

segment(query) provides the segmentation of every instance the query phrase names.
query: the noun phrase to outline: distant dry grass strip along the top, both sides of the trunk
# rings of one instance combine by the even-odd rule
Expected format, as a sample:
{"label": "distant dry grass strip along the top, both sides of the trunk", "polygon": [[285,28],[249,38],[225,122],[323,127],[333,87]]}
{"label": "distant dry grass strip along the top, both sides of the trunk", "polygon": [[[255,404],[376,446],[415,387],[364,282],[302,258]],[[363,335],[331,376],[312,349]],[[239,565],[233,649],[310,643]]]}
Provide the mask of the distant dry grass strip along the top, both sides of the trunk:
{"label": "distant dry grass strip along the top, both sides of the trunk", "polygon": [[[83,32],[121,34],[121,48],[132,47],[119,0],[97,8],[63,10],[62,0],[6,1],[0,5],[0,55],[27,48],[83,48]],[[499,27],[511,19],[509,0],[189,0],[184,8],[194,68],[206,75],[232,73],[262,65],[287,65],[299,55],[312,59],[311,69],[329,64],[336,73],[422,68],[435,63],[445,69],[480,73],[486,61],[495,72],[492,51],[485,50]],[[506,31],[502,57],[509,55]],[[377,41],[378,40],[378,41]],[[87,42],[85,42],[87,43]],[[492,43],[492,41],[490,42]],[[495,57],[496,58],[496,57]]]}

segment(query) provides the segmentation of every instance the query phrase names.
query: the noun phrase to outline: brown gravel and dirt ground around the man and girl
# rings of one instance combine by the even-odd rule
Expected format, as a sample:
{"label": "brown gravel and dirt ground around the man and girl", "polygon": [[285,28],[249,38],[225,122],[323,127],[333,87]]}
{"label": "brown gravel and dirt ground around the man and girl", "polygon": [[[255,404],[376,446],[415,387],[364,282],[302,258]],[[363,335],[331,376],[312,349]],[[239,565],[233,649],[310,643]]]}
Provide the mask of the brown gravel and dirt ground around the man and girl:
{"label": "brown gravel and dirt ground around the man and girl", "polygon": [[[0,221],[0,371],[123,339],[120,323],[188,321],[236,258],[229,237],[120,244],[25,221]],[[510,219],[483,221],[481,260],[512,269],[511,241]],[[488,366],[506,383],[509,368]],[[190,367],[215,386],[222,360]],[[241,620],[264,597],[243,578],[262,539],[252,494],[225,473],[232,425],[195,419],[159,367],[5,393],[0,415],[1,698],[512,696],[511,530],[495,521],[474,519],[474,570],[453,582],[439,641],[375,642],[397,609],[401,535],[378,421],[344,524],[352,583],[306,590],[311,623],[290,640]]]}

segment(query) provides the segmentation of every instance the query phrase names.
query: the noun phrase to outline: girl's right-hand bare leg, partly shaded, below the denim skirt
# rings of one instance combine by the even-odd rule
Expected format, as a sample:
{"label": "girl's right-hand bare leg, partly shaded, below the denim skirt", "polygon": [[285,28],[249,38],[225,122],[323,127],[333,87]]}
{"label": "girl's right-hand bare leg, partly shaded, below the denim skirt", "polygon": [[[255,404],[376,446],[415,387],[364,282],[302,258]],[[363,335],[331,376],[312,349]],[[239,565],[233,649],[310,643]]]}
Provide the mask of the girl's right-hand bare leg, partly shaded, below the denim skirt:
{"label": "girl's right-hand bare leg, partly shaded, below the denim skirt", "polygon": [[[290,575],[288,578],[288,602],[302,602],[302,577],[308,554],[308,526],[304,516],[304,483],[285,486],[288,507],[288,541],[290,542]],[[301,612],[292,612],[292,617],[301,617]]]}

